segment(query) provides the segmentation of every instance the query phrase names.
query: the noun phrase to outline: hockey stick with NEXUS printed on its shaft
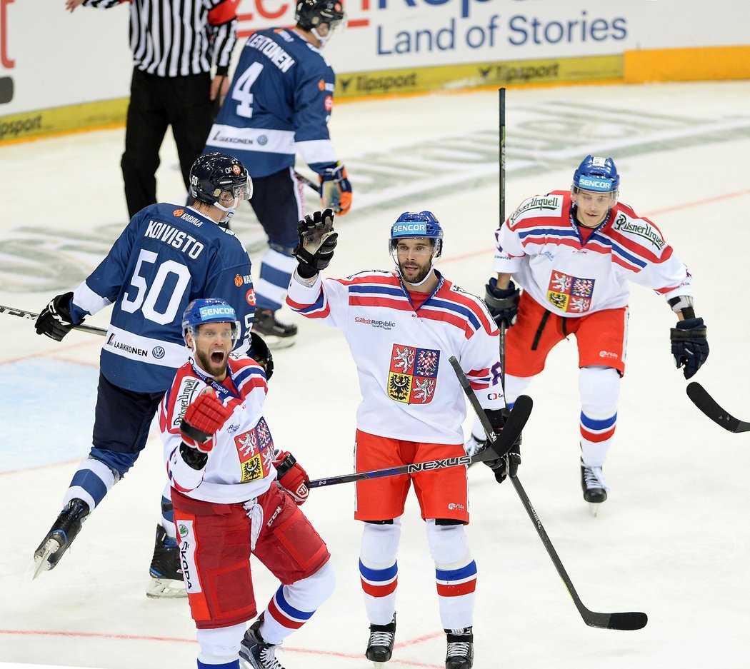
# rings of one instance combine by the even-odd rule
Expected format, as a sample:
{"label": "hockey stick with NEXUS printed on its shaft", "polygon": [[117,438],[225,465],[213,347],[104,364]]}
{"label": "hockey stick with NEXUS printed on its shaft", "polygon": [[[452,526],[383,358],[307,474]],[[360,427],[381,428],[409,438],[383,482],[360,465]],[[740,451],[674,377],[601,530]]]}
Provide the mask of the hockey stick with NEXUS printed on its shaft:
{"label": "hockey stick with NEXUS printed on its shaft", "polygon": [[[329,476],[329,478],[317,478],[314,481],[308,481],[308,487],[323,487],[338,483],[365,481],[369,478],[383,478],[385,476],[430,472],[434,469],[446,469],[446,467],[469,465],[470,463],[484,462],[485,460],[496,460],[496,458],[499,458],[498,454],[507,451],[523,430],[523,426],[526,425],[526,421],[529,419],[531,407],[531,398],[526,395],[520,395],[516,400],[513,410],[508,415],[508,422],[505,423],[505,428],[503,428],[502,434],[499,435],[496,441],[493,441],[492,447],[487,447],[487,449],[484,449],[475,455],[462,455],[459,458],[428,460],[427,462],[404,464],[398,467],[374,469],[370,472],[356,472],[353,474],[342,474],[341,476]],[[495,450],[495,448],[497,450]]]}

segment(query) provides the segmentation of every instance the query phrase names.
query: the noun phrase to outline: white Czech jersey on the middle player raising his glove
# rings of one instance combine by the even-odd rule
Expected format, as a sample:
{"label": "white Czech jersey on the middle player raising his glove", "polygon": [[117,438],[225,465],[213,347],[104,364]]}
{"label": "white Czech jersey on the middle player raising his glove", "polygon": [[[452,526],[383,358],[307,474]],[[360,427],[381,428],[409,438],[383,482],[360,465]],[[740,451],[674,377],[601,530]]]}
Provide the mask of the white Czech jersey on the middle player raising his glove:
{"label": "white Czech jersey on the middle player raising his glove", "polygon": [[499,335],[484,302],[438,273],[417,310],[395,272],[346,279],[293,278],[287,305],[344,331],[359,373],[357,427],[381,437],[463,442],[466,398],[449,362],[455,356],[482,406],[502,409]]}

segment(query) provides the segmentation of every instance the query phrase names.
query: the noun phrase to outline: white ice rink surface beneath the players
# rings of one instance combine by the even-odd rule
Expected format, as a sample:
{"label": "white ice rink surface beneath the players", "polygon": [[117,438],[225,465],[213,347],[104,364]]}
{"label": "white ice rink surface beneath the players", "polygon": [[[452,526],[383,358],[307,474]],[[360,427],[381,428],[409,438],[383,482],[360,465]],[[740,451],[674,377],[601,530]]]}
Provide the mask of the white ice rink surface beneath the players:
{"label": "white ice rink surface beneath the players", "polygon": [[[589,86],[508,91],[506,213],[526,196],[568,187],[589,152],[611,154],[621,199],[651,218],[694,275],[711,355],[697,374],[747,419],[750,311],[750,83]],[[389,226],[431,209],[446,230],[440,269],[481,295],[498,217],[497,93],[427,95],[338,105],[335,145],[354,187],[329,275],[389,269]],[[124,130],[0,148],[0,303],[39,311],[101,260],[126,221],[119,157]],[[305,172],[305,166],[300,166]],[[308,172],[309,174],[309,172]],[[168,137],[160,199],[184,192]],[[311,192],[311,206],[315,206]],[[254,258],[263,247],[238,215]],[[105,311],[90,319],[106,326]],[[352,470],[356,374],[341,334],[299,323],[275,354],[267,418],[279,446],[312,478]],[[145,597],[163,487],[154,433],[139,463],[86,522],[55,571],[31,581],[31,556],[86,457],[101,339],[63,343],[0,316],[0,661],[130,669],[194,667],[186,601]],[[580,493],[574,340],[553,350],[529,388],[535,409],[519,475],[583,603],[641,610],[641,631],[586,627],[509,484],[469,472],[478,564],[476,669],[745,669],[750,622],[750,442],[722,431],[685,395],[673,367],[664,300],[631,294],[628,368],[605,465],[610,499],[591,517]],[[468,425],[468,422],[466,423]],[[335,595],[291,637],[287,669],[369,667],[359,586],[353,485],[314,490],[305,511],[326,538]],[[416,501],[404,519],[394,667],[442,667],[434,566]],[[276,588],[254,562],[259,607]]]}

